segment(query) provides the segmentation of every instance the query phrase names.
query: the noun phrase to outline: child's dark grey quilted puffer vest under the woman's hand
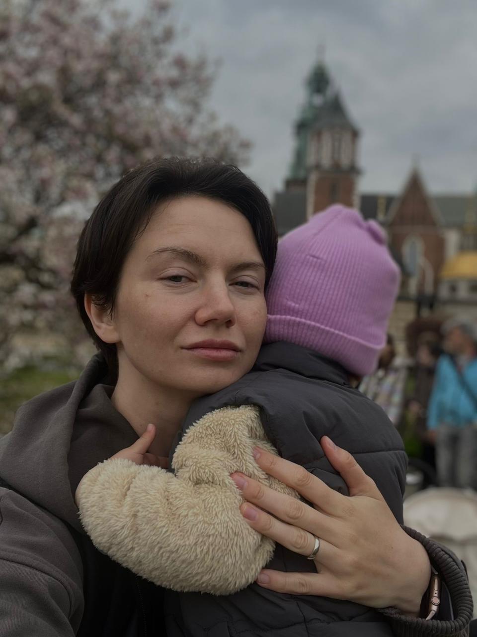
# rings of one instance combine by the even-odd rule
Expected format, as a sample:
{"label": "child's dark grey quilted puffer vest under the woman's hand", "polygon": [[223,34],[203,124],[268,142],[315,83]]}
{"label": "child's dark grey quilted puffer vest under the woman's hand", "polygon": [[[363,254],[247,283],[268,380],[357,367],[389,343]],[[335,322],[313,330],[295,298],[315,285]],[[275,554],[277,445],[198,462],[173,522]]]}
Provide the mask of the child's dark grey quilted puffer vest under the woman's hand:
{"label": "child's dark grey quilted puffer vest under the woman's hand", "polygon": [[[182,434],[213,410],[245,404],[259,407],[266,436],[282,457],[301,464],[343,494],[347,486],[329,464],[319,440],[327,435],[349,450],[402,523],[406,454],[401,438],[382,409],[350,387],[346,371],[338,364],[290,343],[266,345],[251,373],[193,404]],[[268,568],[315,570],[313,562],[280,545]],[[165,613],[169,637],[392,634],[376,610],[349,601],[280,594],[256,584],[221,597],[168,591]]]}

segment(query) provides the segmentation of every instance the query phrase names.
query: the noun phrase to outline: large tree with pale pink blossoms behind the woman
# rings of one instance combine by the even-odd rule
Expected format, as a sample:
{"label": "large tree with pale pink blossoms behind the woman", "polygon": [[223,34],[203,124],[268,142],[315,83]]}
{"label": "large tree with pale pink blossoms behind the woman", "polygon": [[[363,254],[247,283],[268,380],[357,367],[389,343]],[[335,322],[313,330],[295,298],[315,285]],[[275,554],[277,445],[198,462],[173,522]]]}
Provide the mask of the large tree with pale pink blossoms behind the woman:
{"label": "large tree with pale pink blossoms behind the woman", "polygon": [[246,159],[247,141],[207,107],[214,66],[179,45],[162,0],[137,18],[113,0],[1,3],[0,360],[8,366],[28,358],[32,333],[60,334],[74,355],[83,334],[68,294],[74,245],[111,183],[157,155]]}

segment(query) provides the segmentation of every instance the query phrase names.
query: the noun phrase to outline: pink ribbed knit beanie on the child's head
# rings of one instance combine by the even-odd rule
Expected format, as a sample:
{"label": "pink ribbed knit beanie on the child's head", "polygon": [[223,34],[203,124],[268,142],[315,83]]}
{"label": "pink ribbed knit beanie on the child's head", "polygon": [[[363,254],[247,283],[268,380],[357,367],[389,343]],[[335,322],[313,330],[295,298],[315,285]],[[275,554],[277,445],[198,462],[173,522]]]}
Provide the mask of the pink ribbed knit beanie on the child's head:
{"label": "pink ribbed knit beanie on the child's head", "polygon": [[303,345],[350,373],[369,374],[386,342],[399,279],[380,225],[331,206],[279,241],[265,343]]}

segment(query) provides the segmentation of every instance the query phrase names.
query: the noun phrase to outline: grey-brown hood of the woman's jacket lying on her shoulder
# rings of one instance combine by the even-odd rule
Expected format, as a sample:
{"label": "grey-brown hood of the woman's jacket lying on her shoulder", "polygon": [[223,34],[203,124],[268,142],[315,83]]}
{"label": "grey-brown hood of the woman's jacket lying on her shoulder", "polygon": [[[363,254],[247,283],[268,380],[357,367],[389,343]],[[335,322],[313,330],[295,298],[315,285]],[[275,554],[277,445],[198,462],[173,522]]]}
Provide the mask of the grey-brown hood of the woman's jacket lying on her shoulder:
{"label": "grey-brown hood of the woman's jacket lying on her shoulder", "polygon": [[[39,394],[20,407],[0,440],[0,475],[36,505],[84,532],[74,503],[81,477],[137,440],[111,403],[102,355],[78,380]],[[104,429],[98,435],[98,427]]]}

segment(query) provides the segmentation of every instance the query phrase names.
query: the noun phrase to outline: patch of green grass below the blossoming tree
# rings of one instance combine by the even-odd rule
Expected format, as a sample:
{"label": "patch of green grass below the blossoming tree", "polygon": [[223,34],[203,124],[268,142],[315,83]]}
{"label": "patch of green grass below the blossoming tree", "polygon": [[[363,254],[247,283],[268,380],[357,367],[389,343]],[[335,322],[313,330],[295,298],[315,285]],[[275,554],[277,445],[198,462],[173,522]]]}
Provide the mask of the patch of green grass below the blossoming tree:
{"label": "patch of green grass below the blossoming tree", "polygon": [[43,369],[33,366],[15,369],[0,381],[0,436],[8,433],[18,407],[41,392],[78,378],[72,369]]}

